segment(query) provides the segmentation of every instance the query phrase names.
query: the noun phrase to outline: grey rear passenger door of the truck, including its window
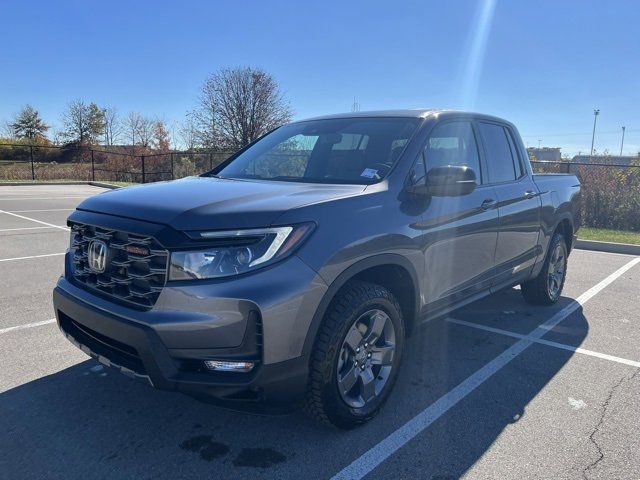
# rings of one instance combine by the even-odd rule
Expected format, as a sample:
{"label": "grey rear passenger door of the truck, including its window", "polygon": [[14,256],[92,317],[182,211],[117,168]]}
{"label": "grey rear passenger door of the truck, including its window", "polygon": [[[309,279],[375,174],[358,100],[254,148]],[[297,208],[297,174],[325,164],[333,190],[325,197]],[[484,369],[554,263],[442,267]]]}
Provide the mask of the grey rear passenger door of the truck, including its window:
{"label": "grey rear passenger door of the truck, including its window", "polygon": [[498,200],[495,285],[528,276],[538,254],[540,197],[507,125],[478,121],[485,171]]}

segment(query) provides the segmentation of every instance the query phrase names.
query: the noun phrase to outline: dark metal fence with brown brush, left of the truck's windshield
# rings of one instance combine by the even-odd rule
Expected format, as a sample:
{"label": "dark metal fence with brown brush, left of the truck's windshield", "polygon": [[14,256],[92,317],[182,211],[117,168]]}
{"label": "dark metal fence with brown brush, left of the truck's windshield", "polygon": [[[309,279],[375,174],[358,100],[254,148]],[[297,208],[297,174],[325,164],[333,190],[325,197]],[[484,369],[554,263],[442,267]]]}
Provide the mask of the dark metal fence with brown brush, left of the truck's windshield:
{"label": "dark metal fence with brown brush, left of the truck's windshield", "polygon": [[78,145],[0,143],[0,179],[156,182],[206,172],[233,153],[140,153],[140,150],[138,147],[120,147],[115,151]]}

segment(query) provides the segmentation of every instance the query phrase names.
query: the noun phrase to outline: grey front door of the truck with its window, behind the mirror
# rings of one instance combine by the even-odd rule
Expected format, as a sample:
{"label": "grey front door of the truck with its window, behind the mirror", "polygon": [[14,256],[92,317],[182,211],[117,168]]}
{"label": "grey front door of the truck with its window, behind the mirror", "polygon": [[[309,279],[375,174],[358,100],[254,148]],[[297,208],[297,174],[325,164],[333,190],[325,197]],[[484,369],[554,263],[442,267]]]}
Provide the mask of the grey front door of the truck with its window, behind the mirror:
{"label": "grey front door of the truck with its window, behind the mirror", "polygon": [[484,184],[480,151],[470,120],[434,127],[423,150],[426,169],[467,165],[478,187],[454,197],[430,197],[422,228],[429,309],[458,303],[490,288],[494,276],[498,211],[494,189]]}

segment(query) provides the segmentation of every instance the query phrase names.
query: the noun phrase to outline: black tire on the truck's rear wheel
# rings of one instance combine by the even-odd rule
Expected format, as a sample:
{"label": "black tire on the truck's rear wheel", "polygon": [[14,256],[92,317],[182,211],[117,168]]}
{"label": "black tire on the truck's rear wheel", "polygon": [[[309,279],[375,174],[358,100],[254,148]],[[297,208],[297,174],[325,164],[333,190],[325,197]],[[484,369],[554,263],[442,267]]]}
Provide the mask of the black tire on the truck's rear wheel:
{"label": "black tire on the truck's rear wheel", "polygon": [[[557,263],[554,257],[556,252],[560,252],[561,255]],[[567,242],[561,233],[555,233],[549,244],[544,265],[538,276],[520,285],[522,296],[527,303],[532,305],[553,305],[558,301],[567,277],[567,257]],[[562,267],[561,274],[557,273],[557,269],[554,269],[555,281],[550,278],[552,275],[550,271],[552,269],[552,262],[554,265]],[[554,284],[554,286],[552,287],[551,284]]]}

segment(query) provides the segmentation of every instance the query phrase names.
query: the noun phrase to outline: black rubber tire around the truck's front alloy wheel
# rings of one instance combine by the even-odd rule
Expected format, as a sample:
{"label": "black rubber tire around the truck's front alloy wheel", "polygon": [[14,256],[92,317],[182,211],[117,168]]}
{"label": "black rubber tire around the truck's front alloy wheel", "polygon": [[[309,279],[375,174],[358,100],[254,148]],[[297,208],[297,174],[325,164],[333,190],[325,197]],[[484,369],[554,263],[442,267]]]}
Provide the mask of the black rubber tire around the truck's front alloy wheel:
{"label": "black rubber tire around the truck's front alloy wheel", "polygon": [[[394,353],[392,360],[387,359],[386,365],[390,369],[385,374],[385,383],[381,386],[380,393],[376,393],[375,397],[358,407],[349,405],[345,400],[344,395],[346,394],[341,393],[338,368],[340,363],[344,362],[344,354],[348,351],[346,350],[347,334],[349,333],[351,337],[354,328],[362,327],[363,324],[359,323],[360,319],[372,311],[387,315],[384,317],[380,313],[380,317],[384,318],[385,325],[388,325],[386,323],[388,321],[392,322]],[[397,379],[402,360],[404,330],[400,305],[389,290],[380,285],[360,281],[349,282],[345,285],[329,305],[311,353],[309,383],[305,400],[307,413],[320,422],[343,429],[354,428],[373,418],[388,398]],[[363,338],[367,338],[369,333],[369,330],[364,332]],[[383,340],[386,341],[386,339],[380,341]],[[385,343],[385,345],[387,344]],[[358,355],[362,355],[362,353]],[[352,359],[355,359],[357,366],[358,361],[355,355]],[[364,363],[361,362],[361,365],[364,371]],[[383,367],[369,365],[367,368],[373,372],[373,382],[379,382],[382,379],[382,370],[376,373],[376,368],[382,369]],[[357,367],[355,370],[358,370]],[[360,372],[357,375],[360,375]],[[364,377],[364,373],[362,376]],[[372,381],[370,378],[368,380]],[[364,388],[362,384],[365,381],[360,378],[356,381],[357,385],[354,384],[354,388]],[[344,384],[340,383],[340,386],[344,386]],[[361,398],[364,397],[365,395],[362,395]]]}

